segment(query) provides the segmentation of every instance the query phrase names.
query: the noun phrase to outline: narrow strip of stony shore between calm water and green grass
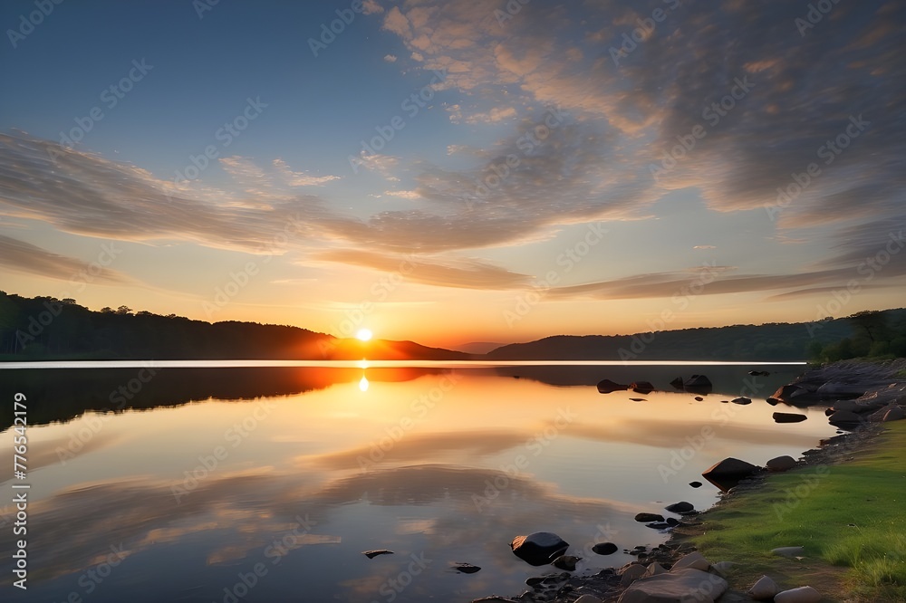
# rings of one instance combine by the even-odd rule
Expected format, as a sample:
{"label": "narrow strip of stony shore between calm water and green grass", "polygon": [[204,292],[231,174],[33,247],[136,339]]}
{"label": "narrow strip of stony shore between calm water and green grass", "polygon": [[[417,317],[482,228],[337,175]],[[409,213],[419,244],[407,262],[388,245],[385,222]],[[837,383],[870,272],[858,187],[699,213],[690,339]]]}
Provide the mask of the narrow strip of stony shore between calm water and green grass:
{"label": "narrow strip of stony shore between calm water and green grass", "polygon": [[[831,409],[837,405],[853,408],[853,404],[860,405],[864,403],[864,408],[857,408],[857,410],[864,413],[864,415],[858,416],[857,424],[846,422],[834,424],[832,421],[832,425],[843,425],[845,427],[844,433],[821,440],[819,445],[803,452],[801,458],[796,461],[795,467],[790,469],[789,472],[802,474],[802,472],[812,469],[817,473],[821,468],[847,464],[857,456],[872,450],[877,444],[877,436],[885,431],[883,418],[879,413],[882,411],[886,412],[896,406],[902,408],[902,405],[906,404],[906,378],[901,377],[904,373],[906,373],[906,359],[882,362],[842,360],[819,367],[810,367],[797,376],[790,384],[779,388],[775,396],[784,393],[785,388],[787,396],[791,391],[790,388],[798,388],[792,390],[797,395],[787,397],[787,399],[769,397],[768,403],[773,406],[780,404],[786,404],[794,408],[826,406]],[[834,384],[834,386],[825,388],[826,390],[839,389],[839,393],[830,393],[828,391],[819,395],[818,390],[822,386],[829,384]],[[846,391],[847,388],[848,391]],[[857,397],[853,396],[854,393],[858,393],[858,389],[864,389],[864,391]],[[829,418],[833,418],[833,416],[830,416],[830,411],[827,414]],[[550,582],[549,589],[559,587],[555,591],[533,592],[530,589],[512,598],[492,596],[473,599],[473,603],[532,603],[540,601],[549,603],[615,603],[632,583],[631,580],[622,579],[622,574],[628,568],[634,565],[650,566],[653,563],[660,563],[667,568],[665,571],[670,570],[682,557],[698,550],[695,541],[708,531],[708,522],[714,512],[719,512],[727,506],[737,504],[737,502],[744,502],[747,494],[760,491],[766,484],[771,482],[773,476],[786,473],[786,471],[772,472],[762,470],[741,480],[736,486],[730,488],[728,492],[721,493],[718,501],[707,510],[684,515],[679,525],[670,532],[670,537],[667,541],[649,550],[649,554],[645,556],[644,560],[631,561],[622,566],[622,568],[605,568],[589,576],[573,576],[567,572],[562,572],[557,576],[558,579],[554,579],[552,575],[549,577],[550,580],[547,580]],[[717,563],[725,560],[711,561]],[[741,565],[745,560],[727,561],[730,561],[732,565]],[[708,561],[705,561],[705,563],[707,565]],[[714,566],[708,568],[711,575],[725,578],[726,572],[723,570],[725,568],[720,570]],[[704,574],[704,572],[702,573]],[[842,574],[843,570],[840,573]],[[745,589],[749,586],[751,585],[730,584],[729,589],[723,596],[717,599],[699,595],[696,600],[717,600],[718,603],[754,601],[756,599],[750,598],[745,593]],[[820,587],[821,584],[819,583],[817,586]],[[834,600],[851,600],[847,597],[847,595],[843,595],[843,598]],[[821,600],[826,599],[822,598]]]}

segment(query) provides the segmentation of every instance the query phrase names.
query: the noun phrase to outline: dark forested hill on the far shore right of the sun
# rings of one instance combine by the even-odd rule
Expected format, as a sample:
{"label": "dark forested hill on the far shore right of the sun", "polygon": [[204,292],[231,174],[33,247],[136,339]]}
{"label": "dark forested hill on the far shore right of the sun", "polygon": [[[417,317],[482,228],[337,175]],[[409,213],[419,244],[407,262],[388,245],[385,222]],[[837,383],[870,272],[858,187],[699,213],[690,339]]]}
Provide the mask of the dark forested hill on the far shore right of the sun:
{"label": "dark forested hill on the far shore right of the sun", "polygon": [[488,352],[507,360],[805,360],[906,356],[906,310],[842,319],[664,330],[635,335],[557,335]]}

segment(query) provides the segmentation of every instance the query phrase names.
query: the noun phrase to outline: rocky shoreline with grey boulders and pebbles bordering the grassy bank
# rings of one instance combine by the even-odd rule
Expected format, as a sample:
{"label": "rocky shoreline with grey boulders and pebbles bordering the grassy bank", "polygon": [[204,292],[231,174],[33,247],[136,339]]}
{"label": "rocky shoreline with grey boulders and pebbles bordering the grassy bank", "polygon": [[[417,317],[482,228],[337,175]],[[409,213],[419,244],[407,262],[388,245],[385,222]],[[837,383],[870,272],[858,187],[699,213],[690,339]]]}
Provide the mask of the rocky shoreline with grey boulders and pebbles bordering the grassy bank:
{"label": "rocky shoreline with grey boulders and pebbles bordering the grassy bank", "polygon": [[[769,404],[827,407],[829,422],[841,434],[822,440],[817,448],[805,451],[799,460],[792,459],[795,463],[788,468],[852,460],[883,431],[882,423],[906,417],[906,378],[903,376],[906,376],[906,359],[881,363],[844,360],[809,369],[778,388],[767,398]],[[721,494],[713,508],[759,488],[772,473],[774,471],[758,468],[743,476]],[[548,572],[529,579],[526,582],[529,589],[517,597],[492,596],[474,599],[473,603],[645,603],[693,600],[689,599],[690,593],[701,603],[771,600],[775,595],[775,601],[820,600],[820,593],[805,585],[779,594],[775,591],[763,598],[765,593],[776,589],[770,579],[759,580],[753,586],[754,591],[749,593],[729,589],[722,575],[732,563],[705,560],[691,542],[702,524],[707,522],[707,513],[683,513],[682,519],[671,526],[669,541],[651,550],[636,547],[631,554],[638,559],[622,568],[606,568],[590,576],[573,576],[569,571]],[[763,589],[761,593],[759,589]],[[676,598],[670,598],[671,592],[677,593]],[[754,598],[759,594],[762,597]]]}

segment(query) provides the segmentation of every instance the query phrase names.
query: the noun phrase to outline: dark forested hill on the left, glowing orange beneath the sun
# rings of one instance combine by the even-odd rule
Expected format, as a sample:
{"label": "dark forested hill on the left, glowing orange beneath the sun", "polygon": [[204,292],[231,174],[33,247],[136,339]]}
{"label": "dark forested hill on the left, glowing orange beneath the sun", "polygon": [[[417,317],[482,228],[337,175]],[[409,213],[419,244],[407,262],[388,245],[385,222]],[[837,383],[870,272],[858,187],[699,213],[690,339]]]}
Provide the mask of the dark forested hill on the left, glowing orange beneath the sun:
{"label": "dark forested hill on the left, glowing orange beneath the sun", "polygon": [[205,322],[124,306],[0,292],[0,359],[468,359],[412,341],[337,339],[298,327]]}

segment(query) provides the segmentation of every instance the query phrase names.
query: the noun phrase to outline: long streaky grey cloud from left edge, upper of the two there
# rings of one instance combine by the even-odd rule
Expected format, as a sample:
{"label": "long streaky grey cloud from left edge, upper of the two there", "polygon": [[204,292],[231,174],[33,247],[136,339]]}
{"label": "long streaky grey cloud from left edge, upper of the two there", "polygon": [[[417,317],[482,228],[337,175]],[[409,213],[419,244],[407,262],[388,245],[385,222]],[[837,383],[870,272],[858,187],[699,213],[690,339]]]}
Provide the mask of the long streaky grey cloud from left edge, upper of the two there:
{"label": "long streaky grey cloud from left edge, upper of the two there", "polygon": [[311,226],[334,216],[319,198],[278,187],[271,174],[245,158],[221,164],[255,194],[198,182],[178,187],[147,170],[49,140],[0,134],[0,166],[16,166],[15,172],[0,171],[0,215],[41,220],[75,235],[188,240],[253,253],[286,229],[295,234],[295,244],[306,235],[316,239]]}

